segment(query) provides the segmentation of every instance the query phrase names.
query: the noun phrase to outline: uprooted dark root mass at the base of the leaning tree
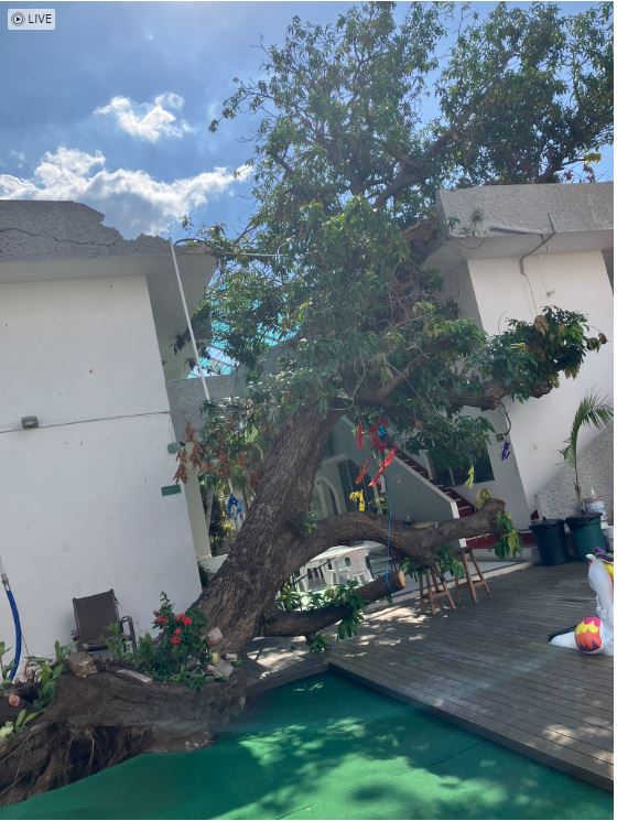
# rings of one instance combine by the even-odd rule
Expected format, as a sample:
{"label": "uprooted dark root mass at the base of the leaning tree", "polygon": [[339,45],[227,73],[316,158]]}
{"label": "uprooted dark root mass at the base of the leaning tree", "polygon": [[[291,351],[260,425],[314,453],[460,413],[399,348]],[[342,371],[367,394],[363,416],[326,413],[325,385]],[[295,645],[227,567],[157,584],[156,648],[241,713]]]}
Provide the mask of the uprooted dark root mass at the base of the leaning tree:
{"label": "uprooted dark root mass at the base of the leaning tree", "polygon": [[246,672],[202,692],[97,673],[64,674],[54,702],[0,752],[0,807],[142,753],[207,746],[243,704]]}

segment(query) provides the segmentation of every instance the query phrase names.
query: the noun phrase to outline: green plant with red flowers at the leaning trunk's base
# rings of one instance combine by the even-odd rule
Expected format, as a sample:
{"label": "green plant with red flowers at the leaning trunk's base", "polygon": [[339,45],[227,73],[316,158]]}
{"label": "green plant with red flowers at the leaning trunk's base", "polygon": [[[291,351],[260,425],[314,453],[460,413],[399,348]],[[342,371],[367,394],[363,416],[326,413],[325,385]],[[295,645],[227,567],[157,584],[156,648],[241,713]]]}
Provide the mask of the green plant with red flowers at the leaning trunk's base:
{"label": "green plant with red flowers at the leaning trunk's base", "polygon": [[153,627],[158,636],[140,636],[136,652],[129,652],[121,638],[119,627],[108,628],[107,647],[113,660],[140,672],[152,676],[156,681],[186,684],[199,690],[210,680],[207,667],[210,650],[203,631],[206,619],[197,607],[186,613],[174,613],[173,604],[165,593],[161,593],[161,606],[154,612]]}

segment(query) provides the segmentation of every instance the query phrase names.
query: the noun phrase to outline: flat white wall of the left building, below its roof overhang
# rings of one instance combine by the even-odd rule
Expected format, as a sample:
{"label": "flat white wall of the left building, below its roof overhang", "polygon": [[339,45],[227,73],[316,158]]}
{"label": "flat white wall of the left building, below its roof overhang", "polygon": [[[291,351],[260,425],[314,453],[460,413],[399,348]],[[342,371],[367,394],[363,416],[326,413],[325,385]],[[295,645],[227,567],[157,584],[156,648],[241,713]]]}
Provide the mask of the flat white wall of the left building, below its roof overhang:
{"label": "flat white wall of the left building, below its roof overhang", "polygon": [[[175,435],[144,278],[1,284],[0,377],[0,553],[30,651],[68,640],[73,596],[113,587],[140,630],[162,590],[190,604],[184,493],[161,495]],[[12,644],[1,596],[0,637]]]}

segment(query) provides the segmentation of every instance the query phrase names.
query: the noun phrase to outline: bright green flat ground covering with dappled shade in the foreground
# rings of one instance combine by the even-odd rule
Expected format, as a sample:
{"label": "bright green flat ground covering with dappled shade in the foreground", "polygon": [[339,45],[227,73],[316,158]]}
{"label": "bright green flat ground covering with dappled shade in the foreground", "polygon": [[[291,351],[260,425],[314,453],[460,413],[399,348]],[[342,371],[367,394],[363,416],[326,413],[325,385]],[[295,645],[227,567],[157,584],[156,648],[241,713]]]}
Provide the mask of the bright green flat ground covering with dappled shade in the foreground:
{"label": "bright green flat ground covering with dappled shade in the foreground", "polygon": [[193,753],[133,758],[0,819],[611,819],[613,798],[334,674]]}

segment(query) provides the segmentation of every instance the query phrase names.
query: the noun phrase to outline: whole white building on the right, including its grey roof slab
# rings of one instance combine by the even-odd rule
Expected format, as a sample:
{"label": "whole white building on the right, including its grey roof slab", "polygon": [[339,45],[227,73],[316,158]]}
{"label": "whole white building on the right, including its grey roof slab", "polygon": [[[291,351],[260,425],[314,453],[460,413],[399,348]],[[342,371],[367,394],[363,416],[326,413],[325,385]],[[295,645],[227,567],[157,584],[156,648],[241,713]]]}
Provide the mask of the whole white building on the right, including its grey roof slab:
{"label": "whole white building on the right, including its grey roof slab", "polygon": [[[544,512],[542,494],[563,465],[559,450],[583,396],[594,390],[613,399],[613,183],[442,191],[437,207],[445,241],[427,264],[441,270],[462,315],[496,334],[509,318],[533,322],[544,306],[558,305],[585,314],[591,334],[608,337],[598,354],[586,356],[576,379],[562,375],[559,389],[542,399],[506,402],[511,455],[501,460],[502,443],[491,439],[494,479],[481,486],[506,499],[515,522],[526,527],[530,514]],[[501,411],[489,417],[496,432],[508,431]],[[581,450],[597,435],[583,429]],[[605,458],[611,462],[613,454]],[[611,511],[613,483],[598,480],[594,489]],[[472,499],[477,488],[456,490]],[[562,516],[574,512],[574,498],[572,488]]]}

